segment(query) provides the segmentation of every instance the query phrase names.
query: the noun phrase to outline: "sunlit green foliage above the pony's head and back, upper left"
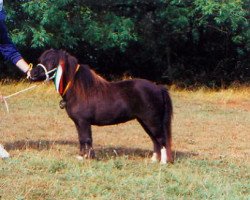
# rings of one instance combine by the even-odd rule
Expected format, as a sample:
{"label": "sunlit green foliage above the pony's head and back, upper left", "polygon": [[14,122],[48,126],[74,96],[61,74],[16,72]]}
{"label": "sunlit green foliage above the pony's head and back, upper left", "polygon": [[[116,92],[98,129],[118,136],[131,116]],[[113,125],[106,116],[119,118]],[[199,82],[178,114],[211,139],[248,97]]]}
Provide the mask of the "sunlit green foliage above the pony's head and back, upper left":
{"label": "sunlit green foliage above the pony's head and back, upper left", "polygon": [[15,26],[12,38],[18,45],[73,48],[87,41],[98,48],[119,47],[123,50],[129,41],[136,40],[132,20],[112,13],[99,15],[78,1],[17,2],[19,12],[12,11],[16,3],[13,1],[9,13]]}

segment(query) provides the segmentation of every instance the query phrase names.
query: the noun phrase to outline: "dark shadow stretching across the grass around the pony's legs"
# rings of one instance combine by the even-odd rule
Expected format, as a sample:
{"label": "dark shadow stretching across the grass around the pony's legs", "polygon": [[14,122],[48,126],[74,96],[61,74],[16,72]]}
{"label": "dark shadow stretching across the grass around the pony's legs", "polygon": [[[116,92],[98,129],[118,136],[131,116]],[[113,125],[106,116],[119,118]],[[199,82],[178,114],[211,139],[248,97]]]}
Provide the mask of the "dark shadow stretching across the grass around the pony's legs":
{"label": "dark shadow stretching across the grass around the pony's legs", "polygon": [[[19,140],[12,143],[5,143],[4,147],[7,151],[10,150],[25,150],[25,149],[36,149],[36,150],[48,150],[53,149],[57,145],[69,145],[79,148],[77,141],[65,141],[65,140]],[[129,158],[149,158],[152,156],[151,150],[140,149],[140,148],[128,148],[125,146],[115,147],[108,146],[103,147],[101,145],[95,146],[95,153],[98,160],[109,160],[114,157],[128,156]],[[174,160],[182,160],[185,158],[198,156],[195,152],[182,152],[173,151]]]}

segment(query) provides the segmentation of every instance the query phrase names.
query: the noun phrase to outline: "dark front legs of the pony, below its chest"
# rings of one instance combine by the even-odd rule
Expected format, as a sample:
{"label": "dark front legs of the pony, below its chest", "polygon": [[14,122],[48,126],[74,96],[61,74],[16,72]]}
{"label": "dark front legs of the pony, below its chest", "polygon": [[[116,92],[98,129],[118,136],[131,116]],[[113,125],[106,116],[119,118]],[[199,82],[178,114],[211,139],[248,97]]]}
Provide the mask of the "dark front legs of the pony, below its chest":
{"label": "dark front legs of the pony, below its chest", "polygon": [[81,123],[76,123],[76,128],[80,143],[80,156],[82,156],[82,158],[94,158],[95,152],[92,148],[91,125],[82,121]]}

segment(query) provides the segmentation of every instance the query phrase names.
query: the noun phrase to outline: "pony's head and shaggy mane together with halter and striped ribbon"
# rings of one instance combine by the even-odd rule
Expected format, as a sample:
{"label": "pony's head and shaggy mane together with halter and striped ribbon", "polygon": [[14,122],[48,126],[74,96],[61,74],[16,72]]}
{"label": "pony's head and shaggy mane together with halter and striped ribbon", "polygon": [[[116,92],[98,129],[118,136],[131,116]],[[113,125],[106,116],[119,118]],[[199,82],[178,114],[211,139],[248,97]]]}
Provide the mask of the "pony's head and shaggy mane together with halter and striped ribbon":
{"label": "pony's head and shaggy mane together with halter and striped ribbon", "polygon": [[[68,89],[74,88],[86,98],[97,93],[108,93],[107,81],[97,75],[87,65],[79,65],[78,60],[64,50],[50,49],[42,53],[39,64],[30,72],[32,81],[54,79],[57,91],[64,96]],[[76,84],[77,82],[77,84]]]}

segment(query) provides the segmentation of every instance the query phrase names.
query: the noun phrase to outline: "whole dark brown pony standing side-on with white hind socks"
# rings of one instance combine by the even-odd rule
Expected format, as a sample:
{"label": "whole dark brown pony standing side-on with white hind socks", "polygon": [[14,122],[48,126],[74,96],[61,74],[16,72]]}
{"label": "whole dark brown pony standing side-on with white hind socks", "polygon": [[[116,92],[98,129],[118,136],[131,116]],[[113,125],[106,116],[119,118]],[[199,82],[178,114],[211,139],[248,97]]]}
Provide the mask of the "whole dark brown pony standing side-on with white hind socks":
{"label": "whole dark brown pony standing side-on with white hind socks", "polygon": [[94,156],[91,125],[112,125],[137,119],[153,141],[152,160],[173,162],[172,102],[164,86],[144,79],[108,82],[62,50],[45,51],[39,62],[31,70],[33,81],[52,79],[54,70],[62,69],[59,93],[76,125],[81,156]]}

